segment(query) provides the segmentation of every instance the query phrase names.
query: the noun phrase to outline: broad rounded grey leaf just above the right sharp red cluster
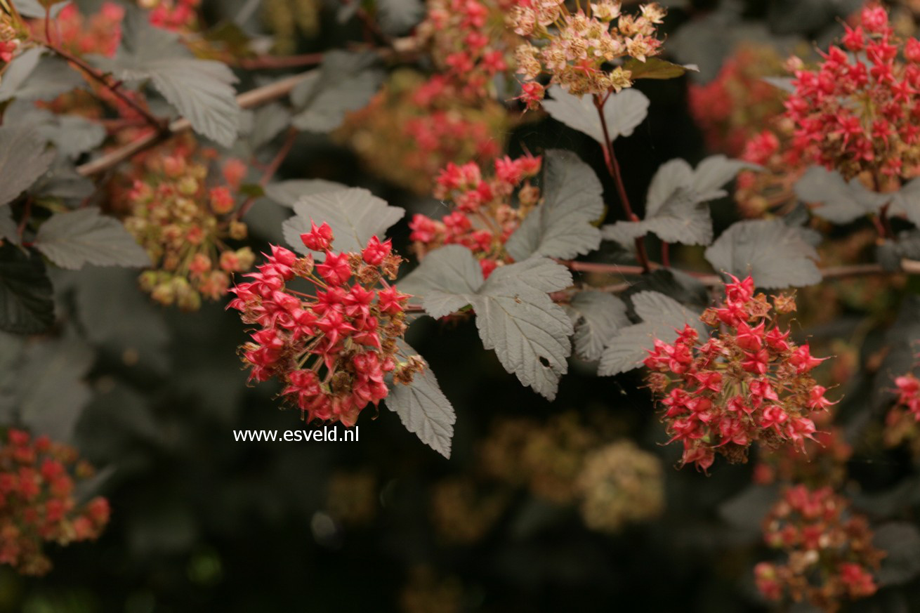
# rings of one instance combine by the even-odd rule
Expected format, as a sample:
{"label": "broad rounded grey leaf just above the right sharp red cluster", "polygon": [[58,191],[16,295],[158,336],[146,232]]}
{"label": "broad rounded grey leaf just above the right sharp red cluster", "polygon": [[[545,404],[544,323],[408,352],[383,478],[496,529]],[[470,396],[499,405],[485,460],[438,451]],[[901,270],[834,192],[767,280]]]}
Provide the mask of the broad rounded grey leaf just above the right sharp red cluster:
{"label": "broad rounded grey leaf just above the right sharp red cluster", "polygon": [[750,274],[758,287],[783,289],[820,283],[815,264],[818,252],[802,237],[799,228],[779,219],[742,221],[706,250],[706,259],[718,272],[738,277]]}

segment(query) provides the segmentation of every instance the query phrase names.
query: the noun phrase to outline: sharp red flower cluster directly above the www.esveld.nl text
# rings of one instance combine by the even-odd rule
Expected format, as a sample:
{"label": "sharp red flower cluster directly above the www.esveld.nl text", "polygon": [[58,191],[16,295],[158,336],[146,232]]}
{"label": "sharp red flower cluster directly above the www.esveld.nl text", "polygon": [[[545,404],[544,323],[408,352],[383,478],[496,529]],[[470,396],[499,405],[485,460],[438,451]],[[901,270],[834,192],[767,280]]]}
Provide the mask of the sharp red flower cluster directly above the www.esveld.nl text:
{"label": "sharp red flower cluster directly above the www.esveld.nl text", "polygon": [[[314,265],[312,256],[272,246],[259,272],[246,275],[252,281],[230,290],[236,299],[228,308],[260,327],[241,348],[250,380],[276,377],[302,417],[351,426],[364,407],[386,397],[387,373],[407,383],[422,368],[417,356],[397,363],[408,295],[386,279],[396,279],[402,259],[377,237],[362,253],[335,253],[327,224],[313,224],[301,238],[308,249],[325,252],[325,260]],[[312,284],[314,293],[294,290],[295,279]],[[375,289],[378,283],[384,289]]]}

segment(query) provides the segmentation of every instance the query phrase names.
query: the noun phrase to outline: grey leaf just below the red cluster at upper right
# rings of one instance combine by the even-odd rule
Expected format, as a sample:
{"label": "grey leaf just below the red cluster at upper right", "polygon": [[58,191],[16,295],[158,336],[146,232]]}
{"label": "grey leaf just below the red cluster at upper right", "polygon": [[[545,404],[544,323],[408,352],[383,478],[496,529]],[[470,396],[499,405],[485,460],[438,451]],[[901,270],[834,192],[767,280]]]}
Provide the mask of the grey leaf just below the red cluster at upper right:
{"label": "grey leaf just below the red cluster at upper right", "polygon": [[812,166],[795,184],[796,195],[805,202],[820,202],[811,213],[834,224],[848,224],[863,215],[877,212],[890,200],[868,191],[858,179],[849,182],[836,170]]}

